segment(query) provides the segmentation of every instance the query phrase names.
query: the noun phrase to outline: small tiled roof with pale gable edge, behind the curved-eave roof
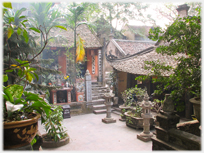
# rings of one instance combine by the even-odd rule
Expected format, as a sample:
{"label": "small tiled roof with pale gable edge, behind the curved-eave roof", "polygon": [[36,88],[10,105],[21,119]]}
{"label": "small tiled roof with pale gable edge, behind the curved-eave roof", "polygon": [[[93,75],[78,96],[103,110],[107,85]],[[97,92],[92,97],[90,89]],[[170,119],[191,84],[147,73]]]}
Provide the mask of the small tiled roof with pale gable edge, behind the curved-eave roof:
{"label": "small tiled roof with pale gable edge, behind the curved-eave roof", "polygon": [[132,55],[149,47],[153,47],[155,44],[153,41],[135,41],[122,39],[115,39],[115,41],[127,55]]}

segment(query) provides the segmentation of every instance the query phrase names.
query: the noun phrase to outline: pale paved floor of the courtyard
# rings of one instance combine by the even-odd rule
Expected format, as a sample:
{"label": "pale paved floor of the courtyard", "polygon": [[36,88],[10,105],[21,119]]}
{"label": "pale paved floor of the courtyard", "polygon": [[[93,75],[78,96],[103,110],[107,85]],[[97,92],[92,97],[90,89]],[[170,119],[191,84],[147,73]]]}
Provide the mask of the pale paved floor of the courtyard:
{"label": "pale paved floor of the courtyard", "polygon": [[[103,123],[106,114],[91,113],[64,119],[63,126],[70,136],[70,142],[58,148],[42,148],[42,151],[152,151],[152,141],[137,139],[142,129],[127,127],[125,122],[119,120],[119,115],[112,113],[111,116],[116,123]],[[40,122],[39,131],[44,134],[46,132]]]}

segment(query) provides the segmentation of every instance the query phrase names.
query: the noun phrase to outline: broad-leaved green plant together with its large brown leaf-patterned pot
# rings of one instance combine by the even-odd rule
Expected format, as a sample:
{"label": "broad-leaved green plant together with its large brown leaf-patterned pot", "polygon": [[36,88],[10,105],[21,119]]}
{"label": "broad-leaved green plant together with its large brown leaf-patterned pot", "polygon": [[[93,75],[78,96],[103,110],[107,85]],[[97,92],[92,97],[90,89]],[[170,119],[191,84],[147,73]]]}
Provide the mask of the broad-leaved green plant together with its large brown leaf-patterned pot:
{"label": "broad-leaved green plant together with its large brown leaf-patterned pot", "polygon": [[[8,77],[4,75],[4,82]],[[51,106],[38,94],[26,92],[21,85],[3,87],[4,98],[4,149],[28,145],[38,130],[38,119],[44,122]]]}

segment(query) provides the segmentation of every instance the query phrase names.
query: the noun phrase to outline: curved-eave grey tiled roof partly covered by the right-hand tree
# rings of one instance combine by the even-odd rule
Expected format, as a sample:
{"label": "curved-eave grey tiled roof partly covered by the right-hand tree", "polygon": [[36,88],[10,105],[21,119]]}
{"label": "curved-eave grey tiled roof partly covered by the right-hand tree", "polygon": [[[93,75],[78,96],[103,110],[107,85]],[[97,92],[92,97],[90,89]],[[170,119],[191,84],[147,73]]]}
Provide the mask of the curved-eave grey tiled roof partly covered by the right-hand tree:
{"label": "curved-eave grey tiled roof partly covered by the right-hand tree", "polygon": [[[150,47],[144,51],[131,55],[129,57],[108,60],[109,64],[118,71],[127,72],[131,74],[147,75],[151,73],[149,70],[144,69],[144,61],[157,61],[159,63],[166,63],[166,65],[171,65],[176,67],[177,62],[174,60],[175,57],[183,56],[182,54],[177,56],[168,56],[158,54],[155,51],[155,47]],[[172,72],[163,72],[163,76],[169,76]]]}

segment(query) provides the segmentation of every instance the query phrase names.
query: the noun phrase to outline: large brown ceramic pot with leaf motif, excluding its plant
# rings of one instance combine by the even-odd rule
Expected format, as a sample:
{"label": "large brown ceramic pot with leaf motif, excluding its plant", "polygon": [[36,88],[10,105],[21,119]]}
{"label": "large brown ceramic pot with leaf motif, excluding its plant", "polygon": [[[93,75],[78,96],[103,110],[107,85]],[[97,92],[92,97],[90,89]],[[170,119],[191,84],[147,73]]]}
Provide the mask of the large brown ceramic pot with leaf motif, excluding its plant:
{"label": "large brown ceramic pot with leaf motif, excluding its plant", "polygon": [[22,121],[4,122],[4,149],[15,149],[30,144],[38,131],[40,114]]}

